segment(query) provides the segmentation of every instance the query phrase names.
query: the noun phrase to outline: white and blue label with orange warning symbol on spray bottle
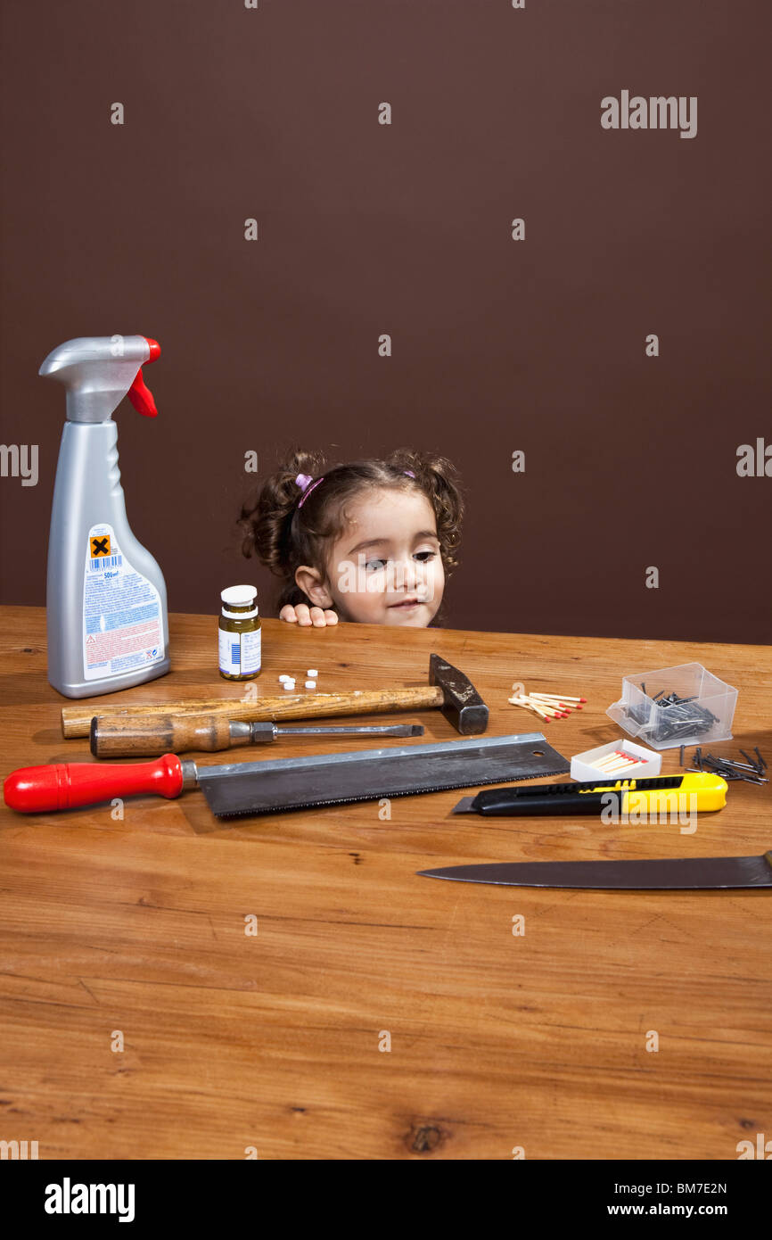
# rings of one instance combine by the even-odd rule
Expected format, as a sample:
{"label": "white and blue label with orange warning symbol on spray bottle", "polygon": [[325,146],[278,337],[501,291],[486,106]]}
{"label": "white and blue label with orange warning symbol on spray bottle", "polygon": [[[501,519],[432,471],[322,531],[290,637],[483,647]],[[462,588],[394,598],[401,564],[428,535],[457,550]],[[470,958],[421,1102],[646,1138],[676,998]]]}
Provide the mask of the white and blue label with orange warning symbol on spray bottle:
{"label": "white and blue label with orange warning symbol on spray bottle", "polygon": [[119,676],[162,658],[159,591],[128,563],[112,526],[92,526],[83,582],[84,678]]}

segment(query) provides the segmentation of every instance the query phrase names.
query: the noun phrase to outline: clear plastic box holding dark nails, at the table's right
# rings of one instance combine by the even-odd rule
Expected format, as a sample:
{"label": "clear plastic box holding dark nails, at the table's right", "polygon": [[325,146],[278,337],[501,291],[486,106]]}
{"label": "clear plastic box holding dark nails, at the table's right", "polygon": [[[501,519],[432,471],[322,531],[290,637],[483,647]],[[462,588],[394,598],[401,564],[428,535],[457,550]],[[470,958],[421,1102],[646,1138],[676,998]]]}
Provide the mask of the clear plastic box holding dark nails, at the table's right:
{"label": "clear plastic box holding dark nails, at the table's right", "polygon": [[[672,704],[673,693],[686,699]],[[732,739],[737,689],[713,676],[701,663],[680,663],[654,672],[626,676],[622,697],[606,714],[652,749],[678,749]]]}

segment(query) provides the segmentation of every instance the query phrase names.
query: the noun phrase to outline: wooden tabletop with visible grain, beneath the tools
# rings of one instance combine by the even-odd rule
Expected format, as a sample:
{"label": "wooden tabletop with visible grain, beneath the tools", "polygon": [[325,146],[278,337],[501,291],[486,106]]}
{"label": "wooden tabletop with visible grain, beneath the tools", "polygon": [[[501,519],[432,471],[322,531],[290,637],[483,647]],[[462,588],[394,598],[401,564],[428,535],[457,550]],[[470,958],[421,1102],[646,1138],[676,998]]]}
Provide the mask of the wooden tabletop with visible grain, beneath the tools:
{"label": "wooden tabletop with visible grain, beneath the tools", "polygon": [[[61,735],[43,610],[0,613],[2,776],[88,760],[87,740]],[[239,692],[217,673],[213,618],[172,616],[171,649],[167,677],[94,702]],[[735,740],[715,749],[772,755],[772,661],[757,646],[266,621],[258,692],[307,667],[320,691],[415,684],[432,650],[480,688],[491,735],[534,730],[507,703],[514,680],[586,696],[546,729],[568,756],[618,735],[605,711],[623,675],[696,660],[740,688]],[[424,742],[454,735],[439,712],[404,718]],[[109,806],[2,807],[0,1138],[37,1140],[41,1158],[735,1159],[739,1141],[772,1136],[770,892],[415,873],[762,853],[770,785],[732,785],[694,835],[452,817],[461,795],[395,799],[390,820],[367,802],[232,825],[201,792],[126,800],[116,821]]]}

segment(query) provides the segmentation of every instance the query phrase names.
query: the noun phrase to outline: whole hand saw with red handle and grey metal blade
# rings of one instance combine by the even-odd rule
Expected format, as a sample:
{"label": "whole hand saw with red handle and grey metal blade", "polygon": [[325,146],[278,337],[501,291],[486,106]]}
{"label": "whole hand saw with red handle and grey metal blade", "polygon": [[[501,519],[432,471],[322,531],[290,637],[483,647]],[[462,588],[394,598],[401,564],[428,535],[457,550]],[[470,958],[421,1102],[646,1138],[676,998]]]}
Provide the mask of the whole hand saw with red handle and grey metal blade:
{"label": "whole hand saw with red handle and grey metal blade", "polygon": [[561,775],[570,764],[543,733],[468,737],[431,745],[200,766],[164,754],[152,763],[61,763],[12,771],[5,804],[22,813],[97,805],[115,796],[175,797],[201,787],[218,817],[374,801],[449,787]]}

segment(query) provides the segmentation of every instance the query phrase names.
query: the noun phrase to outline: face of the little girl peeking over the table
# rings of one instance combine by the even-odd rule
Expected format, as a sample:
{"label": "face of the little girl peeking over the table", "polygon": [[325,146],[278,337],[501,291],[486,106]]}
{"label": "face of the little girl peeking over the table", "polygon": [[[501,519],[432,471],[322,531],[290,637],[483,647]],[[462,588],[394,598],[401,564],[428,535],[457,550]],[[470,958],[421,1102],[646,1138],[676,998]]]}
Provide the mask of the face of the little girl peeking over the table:
{"label": "face of the little girl peeking over the table", "polygon": [[380,489],[352,501],[327,559],[341,620],[426,627],[445,590],[434,510],[419,491]]}

